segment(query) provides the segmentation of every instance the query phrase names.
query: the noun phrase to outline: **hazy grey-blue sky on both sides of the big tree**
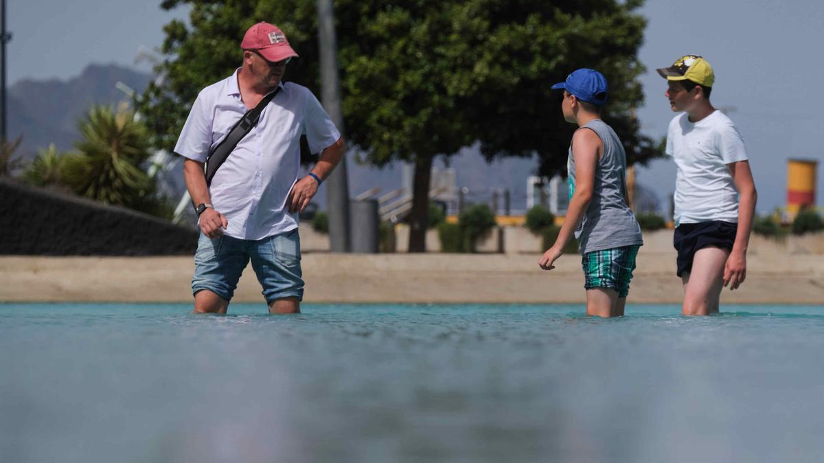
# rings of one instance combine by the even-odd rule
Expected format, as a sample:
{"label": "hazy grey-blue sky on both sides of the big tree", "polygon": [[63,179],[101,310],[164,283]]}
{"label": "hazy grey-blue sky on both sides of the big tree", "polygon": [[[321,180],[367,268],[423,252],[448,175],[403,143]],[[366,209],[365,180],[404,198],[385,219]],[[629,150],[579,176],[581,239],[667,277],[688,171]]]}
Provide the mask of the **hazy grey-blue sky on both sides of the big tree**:
{"label": "hazy grey-blue sky on both sides of the big tree", "polygon": [[[309,0],[307,0],[309,1]],[[8,82],[77,76],[89,63],[133,66],[140,45],[162,43],[162,26],[184,12],[163,12],[152,0],[7,0]],[[716,72],[712,101],[731,108],[751,159],[760,211],[783,205],[788,157],[817,159],[817,203],[824,204],[824,155],[817,133],[824,60],[824,2],[794,0],[648,0],[641,61],[646,105],[639,109],[644,131],[661,136],[673,114],[655,68],[682,54],[700,54]],[[138,68],[149,70],[147,63]],[[554,83],[564,76],[549,79]],[[820,145],[820,144],[819,144]],[[658,160],[639,171],[638,181],[661,197],[672,191],[672,161]]]}

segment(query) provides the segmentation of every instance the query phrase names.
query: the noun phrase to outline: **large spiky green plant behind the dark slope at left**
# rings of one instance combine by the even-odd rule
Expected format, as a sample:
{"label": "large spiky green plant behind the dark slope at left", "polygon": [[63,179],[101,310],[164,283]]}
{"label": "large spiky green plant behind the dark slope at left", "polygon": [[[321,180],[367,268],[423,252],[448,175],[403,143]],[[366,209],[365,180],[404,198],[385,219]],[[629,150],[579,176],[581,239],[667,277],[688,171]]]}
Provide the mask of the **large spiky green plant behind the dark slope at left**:
{"label": "large spiky green plant behind the dark slope at left", "polygon": [[127,105],[116,111],[92,106],[78,128],[78,152],[64,160],[66,185],[89,199],[126,207],[152,196],[152,180],[140,167],[150,155],[149,134]]}

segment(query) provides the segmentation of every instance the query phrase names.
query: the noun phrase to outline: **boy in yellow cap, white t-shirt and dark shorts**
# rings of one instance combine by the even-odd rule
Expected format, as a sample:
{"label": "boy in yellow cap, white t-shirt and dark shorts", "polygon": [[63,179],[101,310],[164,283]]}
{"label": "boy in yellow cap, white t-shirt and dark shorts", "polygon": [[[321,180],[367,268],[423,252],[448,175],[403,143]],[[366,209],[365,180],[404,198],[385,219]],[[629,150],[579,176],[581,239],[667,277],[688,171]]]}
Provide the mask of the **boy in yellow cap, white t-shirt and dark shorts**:
{"label": "boy in yellow cap, white t-shirt and dark shorts", "polygon": [[747,150],[733,121],[709,102],[715,81],[705,58],[689,54],[669,68],[675,116],[667,130],[667,156],[677,166],[675,236],[677,274],[684,283],[684,315],[719,311],[724,286],[747,278],[747,246],[756,208]]}

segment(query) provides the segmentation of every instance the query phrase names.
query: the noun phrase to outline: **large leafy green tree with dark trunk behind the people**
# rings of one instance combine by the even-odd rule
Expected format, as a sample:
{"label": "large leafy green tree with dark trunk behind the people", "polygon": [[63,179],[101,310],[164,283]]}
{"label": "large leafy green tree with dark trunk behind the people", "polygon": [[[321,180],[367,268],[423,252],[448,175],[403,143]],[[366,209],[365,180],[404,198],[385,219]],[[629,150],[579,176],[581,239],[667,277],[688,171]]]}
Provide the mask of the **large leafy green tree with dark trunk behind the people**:
{"label": "large leafy green tree with dark trunk behind the people", "polygon": [[[639,133],[637,51],[646,21],[639,0],[399,0],[335,2],[342,107],[350,144],[363,161],[414,163],[410,251],[425,249],[429,173],[480,141],[481,152],[533,156],[542,173],[563,171],[574,129],[560,115],[552,83],[575,68],[597,68],[611,85],[604,115],[629,161],[658,154]],[[197,92],[241,63],[238,44],[256,21],[279,25],[302,59],[287,80],[318,93],[315,2],[166,0],[191,6],[190,24],[166,25],[157,69],[140,101],[161,147],[171,149]]]}

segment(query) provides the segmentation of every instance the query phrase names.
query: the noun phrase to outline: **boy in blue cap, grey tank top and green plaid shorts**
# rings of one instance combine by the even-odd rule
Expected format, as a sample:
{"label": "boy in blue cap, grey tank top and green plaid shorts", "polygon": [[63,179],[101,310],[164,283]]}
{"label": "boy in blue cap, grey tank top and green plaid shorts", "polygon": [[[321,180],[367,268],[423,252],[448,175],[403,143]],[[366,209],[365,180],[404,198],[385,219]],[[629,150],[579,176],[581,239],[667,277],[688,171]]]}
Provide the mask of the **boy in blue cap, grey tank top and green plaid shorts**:
{"label": "boy in blue cap, grey tank top and green plaid shorts", "polygon": [[573,232],[583,255],[587,315],[623,316],[635,256],[644,244],[627,205],[626,153],[615,131],[601,120],[609,89],[594,69],[578,69],[565,82],[561,110],[579,129],[569,145],[569,208],[555,245],[541,257],[541,269],[555,268]]}

